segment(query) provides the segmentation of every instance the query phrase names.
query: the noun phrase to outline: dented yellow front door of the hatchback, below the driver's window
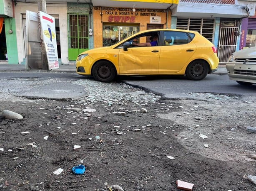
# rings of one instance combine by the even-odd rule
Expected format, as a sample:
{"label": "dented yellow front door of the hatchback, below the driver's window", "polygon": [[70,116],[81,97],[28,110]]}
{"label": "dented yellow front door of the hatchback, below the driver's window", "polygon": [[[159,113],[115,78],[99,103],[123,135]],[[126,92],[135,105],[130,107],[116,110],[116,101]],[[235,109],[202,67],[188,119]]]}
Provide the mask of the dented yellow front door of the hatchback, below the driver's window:
{"label": "dented yellow front door of the hatchback, below the driver's window", "polygon": [[[136,37],[139,43],[146,42],[146,37]],[[153,74],[158,73],[161,47],[129,47],[127,51],[119,51],[120,74]]]}

